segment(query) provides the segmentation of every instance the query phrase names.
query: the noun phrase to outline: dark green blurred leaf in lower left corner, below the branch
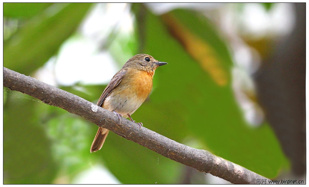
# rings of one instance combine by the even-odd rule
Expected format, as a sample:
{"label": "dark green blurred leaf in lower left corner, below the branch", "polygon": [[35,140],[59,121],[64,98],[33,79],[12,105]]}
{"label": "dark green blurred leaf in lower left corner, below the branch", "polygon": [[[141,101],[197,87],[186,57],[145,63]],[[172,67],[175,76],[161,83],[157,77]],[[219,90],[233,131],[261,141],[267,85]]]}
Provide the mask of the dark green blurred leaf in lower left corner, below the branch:
{"label": "dark green blurred leaf in lower left corner, below the branch", "polygon": [[[3,110],[3,182],[51,183],[57,173],[51,141],[45,134],[38,108],[42,103],[20,92],[5,89]],[[44,113],[43,113],[44,114]]]}

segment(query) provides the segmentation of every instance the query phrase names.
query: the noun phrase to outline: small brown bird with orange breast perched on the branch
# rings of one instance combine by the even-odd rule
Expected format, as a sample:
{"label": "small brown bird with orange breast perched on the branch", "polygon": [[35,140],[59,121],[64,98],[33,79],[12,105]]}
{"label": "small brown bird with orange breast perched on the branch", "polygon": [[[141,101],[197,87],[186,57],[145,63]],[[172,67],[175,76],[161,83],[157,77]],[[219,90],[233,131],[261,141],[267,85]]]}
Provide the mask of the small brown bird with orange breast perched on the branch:
{"label": "small brown bird with orange breast perched on the branch", "polygon": [[[158,62],[148,54],[137,54],[118,71],[103,91],[97,105],[120,117],[129,117],[142,105],[152,89],[155,69],[167,64]],[[133,121],[135,122],[135,121]],[[137,123],[142,126],[142,123]],[[90,152],[102,148],[109,130],[99,127]]]}

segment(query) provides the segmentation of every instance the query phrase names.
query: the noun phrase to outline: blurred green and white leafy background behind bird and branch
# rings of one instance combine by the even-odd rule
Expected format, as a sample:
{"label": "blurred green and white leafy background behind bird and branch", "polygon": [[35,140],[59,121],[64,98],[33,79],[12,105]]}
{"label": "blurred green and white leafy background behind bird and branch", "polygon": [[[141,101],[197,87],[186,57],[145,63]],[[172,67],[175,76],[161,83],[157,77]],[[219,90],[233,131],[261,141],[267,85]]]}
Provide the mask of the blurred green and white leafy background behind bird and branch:
{"label": "blurred green and white leafy background behind bird and branch", "polygon": [[[96,103],[121,66],[156,70],[144,127],[262,176],[304,180],[305,3],[4,3],[3,66]],[[227,183],[3,88],[4,184]]]}

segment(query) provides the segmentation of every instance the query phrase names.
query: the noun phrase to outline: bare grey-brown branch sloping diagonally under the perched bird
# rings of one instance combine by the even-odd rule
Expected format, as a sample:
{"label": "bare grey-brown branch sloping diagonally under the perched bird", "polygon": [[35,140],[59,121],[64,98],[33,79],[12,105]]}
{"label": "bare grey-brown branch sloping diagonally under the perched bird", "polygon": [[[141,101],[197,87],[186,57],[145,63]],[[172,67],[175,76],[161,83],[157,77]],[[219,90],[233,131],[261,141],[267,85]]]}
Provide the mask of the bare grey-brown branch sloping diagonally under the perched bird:
{"label": "bare grey-brown branch sloping diagonally under the perched bird", "polygon": [[121,124],[118,124],[119,120],[112,112],[67,91],[5,67],[3,67],[3,86],[28,94],[43,103],[63,108],[160,155],[231,183],[256,184],[257,179],[266,179],[209,151],[188,147],[144,127],[139,130],[139,126],[129,120],[122,119]]}

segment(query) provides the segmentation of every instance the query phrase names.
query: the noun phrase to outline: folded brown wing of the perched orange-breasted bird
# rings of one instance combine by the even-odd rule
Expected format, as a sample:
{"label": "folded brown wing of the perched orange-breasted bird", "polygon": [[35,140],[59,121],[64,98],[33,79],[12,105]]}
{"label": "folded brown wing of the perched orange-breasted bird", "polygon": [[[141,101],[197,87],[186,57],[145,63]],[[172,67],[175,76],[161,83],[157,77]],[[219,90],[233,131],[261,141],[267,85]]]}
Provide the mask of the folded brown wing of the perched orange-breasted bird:
{"label": "folded brown wing of the perched orange-breasted bird", "polygon": [[112,78],[111,82],[109,82],[109,84],[107,85],[107,87],[105,88],[105,90],[103,91],[100,99],[98,100],[97,105],[101,106],[104,102],[104,100],[106,99],[106,97],[112,92],[112,90],[120,83],[120,81],[122,80],[123,76],[125,75],[125,73],[127,72],[127,69],[122,69],[120,71],[118,71]]}

